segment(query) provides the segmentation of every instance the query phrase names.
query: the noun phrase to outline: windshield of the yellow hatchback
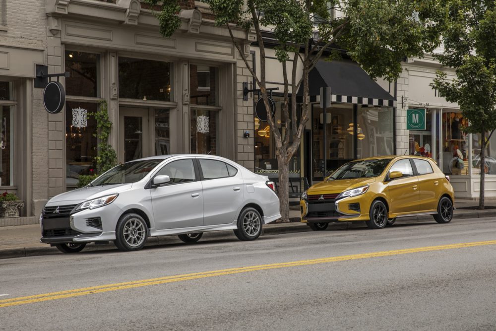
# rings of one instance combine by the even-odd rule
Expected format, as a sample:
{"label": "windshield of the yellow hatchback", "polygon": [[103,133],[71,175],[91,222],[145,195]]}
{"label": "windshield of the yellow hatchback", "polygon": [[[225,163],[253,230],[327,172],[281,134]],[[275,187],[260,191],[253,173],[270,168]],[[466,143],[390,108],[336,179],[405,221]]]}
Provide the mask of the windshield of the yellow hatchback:
{"label": "windshield of the yellow hatchback", "polygon": [[350,178],[369,178],[379,176],[391,159],[373,159],[346,163],[336,170],[328,181]]}

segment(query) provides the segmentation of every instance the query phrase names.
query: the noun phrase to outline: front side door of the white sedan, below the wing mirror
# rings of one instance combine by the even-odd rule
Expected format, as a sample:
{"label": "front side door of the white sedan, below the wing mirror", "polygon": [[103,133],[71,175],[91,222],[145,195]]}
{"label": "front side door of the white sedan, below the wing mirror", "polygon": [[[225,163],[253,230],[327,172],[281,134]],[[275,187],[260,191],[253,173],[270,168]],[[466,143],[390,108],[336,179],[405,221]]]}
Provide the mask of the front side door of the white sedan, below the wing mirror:
{"label": "front side door of the white sedan, below the wing mirror", "polygon": [[203,225],[203,194],[193,159],[167,163],[155,176],[167,175],[171,181],[151,188],[153,217],[157,230]]}

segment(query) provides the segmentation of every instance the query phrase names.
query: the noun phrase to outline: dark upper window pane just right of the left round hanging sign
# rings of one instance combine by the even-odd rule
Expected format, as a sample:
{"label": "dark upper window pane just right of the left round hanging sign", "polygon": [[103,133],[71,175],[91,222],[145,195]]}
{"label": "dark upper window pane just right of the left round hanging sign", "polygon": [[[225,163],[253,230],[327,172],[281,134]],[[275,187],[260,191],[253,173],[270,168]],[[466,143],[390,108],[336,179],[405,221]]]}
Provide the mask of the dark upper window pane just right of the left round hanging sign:
{"label": "dark upper window pane just right of the left round hanging sign", "polygon": [[100,96],[100,55],[65,51],[65,94],[83,97]]}

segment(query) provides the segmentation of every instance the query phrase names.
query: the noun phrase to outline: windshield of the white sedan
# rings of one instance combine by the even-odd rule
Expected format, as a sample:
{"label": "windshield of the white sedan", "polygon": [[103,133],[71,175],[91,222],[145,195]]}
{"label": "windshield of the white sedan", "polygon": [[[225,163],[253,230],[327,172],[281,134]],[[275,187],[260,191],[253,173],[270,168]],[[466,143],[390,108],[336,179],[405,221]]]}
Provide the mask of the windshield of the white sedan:
{"label": "windshield of the white sedan", "polygon": [[134,183],[145,177],[162,159],[131,161],[118,165],[91,182],[91,186]]}

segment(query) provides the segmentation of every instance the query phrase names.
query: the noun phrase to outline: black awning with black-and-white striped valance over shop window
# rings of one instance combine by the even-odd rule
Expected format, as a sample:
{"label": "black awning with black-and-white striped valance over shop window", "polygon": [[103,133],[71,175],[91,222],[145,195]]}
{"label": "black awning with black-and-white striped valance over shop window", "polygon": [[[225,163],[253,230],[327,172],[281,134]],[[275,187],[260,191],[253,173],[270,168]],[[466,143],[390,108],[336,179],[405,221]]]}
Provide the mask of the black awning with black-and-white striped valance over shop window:
{"label": "black awning with black-and-white striped valance over shop window", "polygon": [[[319,61],[309,74],[310,101],[320,101],[320,88],[330,87],[332,102],[395,106],[396,99],[352,61]],[[303,84],[298,95],[303,95]]]}

